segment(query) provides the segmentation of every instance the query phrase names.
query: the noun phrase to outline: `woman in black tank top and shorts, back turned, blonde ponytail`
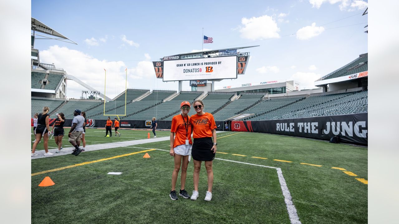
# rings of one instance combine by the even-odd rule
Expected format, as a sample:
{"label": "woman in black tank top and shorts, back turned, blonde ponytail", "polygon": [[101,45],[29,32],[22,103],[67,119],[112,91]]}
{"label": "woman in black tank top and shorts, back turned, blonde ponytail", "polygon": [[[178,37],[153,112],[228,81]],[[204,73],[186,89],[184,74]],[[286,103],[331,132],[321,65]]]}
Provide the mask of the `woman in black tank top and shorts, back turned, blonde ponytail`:
{"label": "woman in black tank top and shorts, back turned, blonde ponytail", "polygon": [[31,156],[37,156],[38,154],[35,153],[36,146],[38,145],[39,141],[41,140],[41,136],[43,136],[44,140],[44,155],[54,155],[53,153],[49,152],[48,150],[48,141],[49,141],[49,107],[45,106],[43,108],[43,112],[38,115],[38,127],[36,128],[36,141],[33,143],[32,146],[32,153]]}

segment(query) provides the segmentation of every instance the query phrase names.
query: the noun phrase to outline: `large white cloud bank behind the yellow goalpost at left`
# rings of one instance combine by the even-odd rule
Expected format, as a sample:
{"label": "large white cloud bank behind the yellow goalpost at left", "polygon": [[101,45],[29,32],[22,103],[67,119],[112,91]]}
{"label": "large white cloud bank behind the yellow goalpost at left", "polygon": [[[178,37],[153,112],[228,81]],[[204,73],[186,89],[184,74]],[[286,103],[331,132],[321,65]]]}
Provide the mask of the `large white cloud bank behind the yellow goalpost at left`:
{"label": "large white cloud bank behind the yellow goalpost at left", "polygon": [[[107,69],[106,94],[109,98],[115,97],[125,88],[126,65],[123,61],[99,60],[81,51],[57,45],[40,51],[40,60],[64,68],[68,75],[73,75],[100,92],[104,91],[104,69]],[[79,98],[82,90],[86,88],[74,81],[67,82],[67,97]]]}

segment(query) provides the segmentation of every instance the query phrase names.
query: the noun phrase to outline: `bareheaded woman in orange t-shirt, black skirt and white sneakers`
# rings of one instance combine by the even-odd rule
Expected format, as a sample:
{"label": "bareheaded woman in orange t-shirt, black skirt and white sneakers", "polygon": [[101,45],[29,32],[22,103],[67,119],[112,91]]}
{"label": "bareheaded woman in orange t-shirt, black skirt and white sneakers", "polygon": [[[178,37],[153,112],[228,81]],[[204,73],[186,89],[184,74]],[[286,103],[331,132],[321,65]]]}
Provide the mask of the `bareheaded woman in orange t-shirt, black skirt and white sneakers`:
{"label": "bareheaded woman in orange t-shirt, black skirt and white sneakers", "polygon": [[[205,161],[205,168],[208,176],[208,191],[205,194],[205,200],[212,199],[213,170],[212,161],[216,153],[216,123],[215,118],[210,113],[203,112],[203,102],[194,101],[194,109],[197,114],[190,118],[190,124],[193,129],[194,143],[192,147],[192,157],[194,159],[194,191],[191,200],[198,198],[199,171],[201,163]],[[213,141],[212,141],[213,138]]]}

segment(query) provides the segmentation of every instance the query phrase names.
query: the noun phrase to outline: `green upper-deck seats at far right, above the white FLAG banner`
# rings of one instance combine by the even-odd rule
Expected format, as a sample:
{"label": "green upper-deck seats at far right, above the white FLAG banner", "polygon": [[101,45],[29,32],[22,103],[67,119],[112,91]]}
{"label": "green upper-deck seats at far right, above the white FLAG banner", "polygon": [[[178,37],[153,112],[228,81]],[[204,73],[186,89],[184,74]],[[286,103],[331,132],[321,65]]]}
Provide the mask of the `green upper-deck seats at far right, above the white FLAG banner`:
{"label": "green upper-deck seats at far right, above the white FLAG banner", "polygon": [[[325,80],[325,79],[332,79],[332,78],[337,78],[345,75],[352,75],[355,73],[363,72],[368,70],[368,54],[361,55],[362,57],[358,57],[351,63],[345,65],[344,67],[333,71],[332,73],[326,75],[325,77],[322,77],[320,80]],[[360,65],[360,63],[363,63]],[[356,67],[356,68],[354,68]],[[352,69],[354,68],[354,69]]]}

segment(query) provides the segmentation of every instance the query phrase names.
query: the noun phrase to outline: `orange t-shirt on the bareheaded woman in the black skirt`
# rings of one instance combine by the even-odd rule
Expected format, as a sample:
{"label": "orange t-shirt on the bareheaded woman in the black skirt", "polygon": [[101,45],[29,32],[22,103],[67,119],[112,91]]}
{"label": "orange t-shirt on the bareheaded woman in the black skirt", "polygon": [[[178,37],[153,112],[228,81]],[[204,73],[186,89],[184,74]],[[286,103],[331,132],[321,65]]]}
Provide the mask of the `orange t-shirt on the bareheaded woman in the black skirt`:
{"label": "orange t-shirt on the bareheaded woman in the black skirt", "polygon": [[215,118],[206,112],[201,116],[192,115],[190,123],[194,127],[193,138],[212,137],[212,130],[216,128]]}

